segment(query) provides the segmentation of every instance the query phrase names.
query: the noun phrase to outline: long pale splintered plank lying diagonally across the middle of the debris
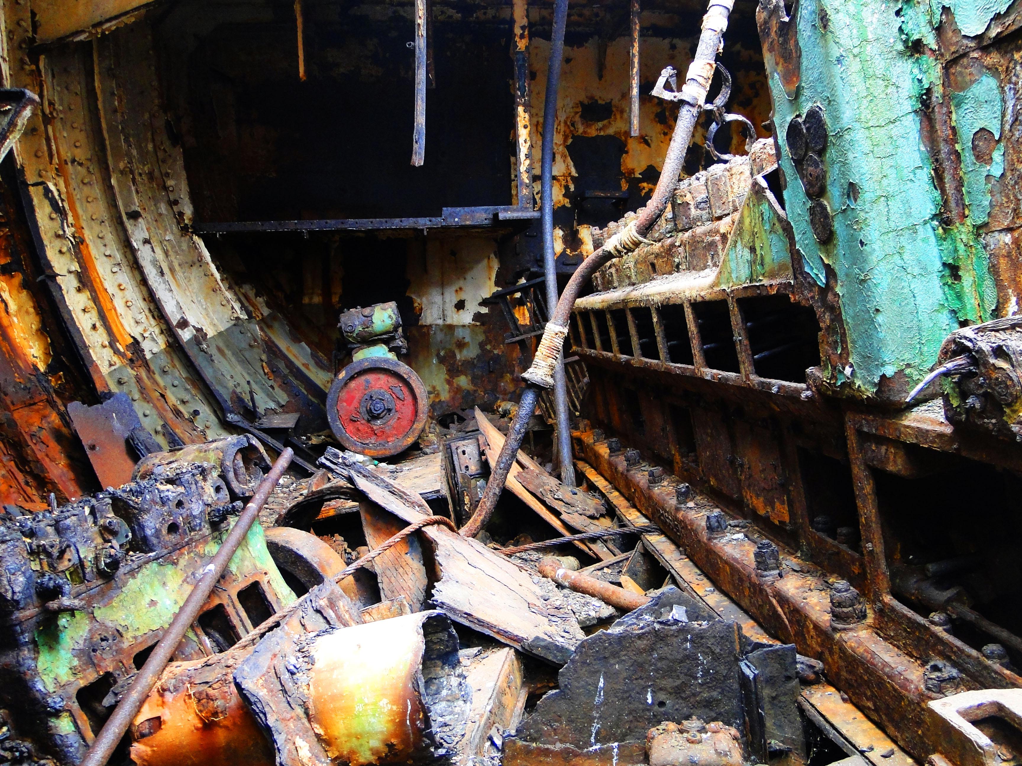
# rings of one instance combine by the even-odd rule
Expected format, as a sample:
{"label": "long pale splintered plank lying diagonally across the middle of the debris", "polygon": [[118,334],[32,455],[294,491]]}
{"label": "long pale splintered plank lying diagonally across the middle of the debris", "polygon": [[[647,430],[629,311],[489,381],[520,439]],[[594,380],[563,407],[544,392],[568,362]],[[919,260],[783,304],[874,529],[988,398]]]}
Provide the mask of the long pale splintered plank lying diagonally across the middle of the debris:
{"label": "long pale splintered plank lying diagonally across the middle of the debris", "polygon": [[[428,514],[382,476],[351,462],[345,468],[359,491],[406,524]],[[425,505],[421,498],[418,502]],[[562,599],[551,599],[529,573],[477,540],[435,524],[424,527],[422,535],[437,570],[432,604],[456,622],[526,654],[567,662],[585,636]]]}

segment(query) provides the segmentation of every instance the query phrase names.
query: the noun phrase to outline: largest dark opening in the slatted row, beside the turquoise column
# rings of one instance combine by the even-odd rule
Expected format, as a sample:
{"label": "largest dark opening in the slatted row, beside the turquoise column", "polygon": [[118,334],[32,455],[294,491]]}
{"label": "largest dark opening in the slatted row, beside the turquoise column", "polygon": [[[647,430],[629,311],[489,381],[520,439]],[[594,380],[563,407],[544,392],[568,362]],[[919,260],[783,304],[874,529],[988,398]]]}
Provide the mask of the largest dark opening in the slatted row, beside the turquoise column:
{"label": "largest dark opening in the slatted row, beside the turquoise column", "polygon": [[760,378],[804,383],[807,368],[820,364],[817,313],[787,295],[739,298],[752,350],[752,367]]}

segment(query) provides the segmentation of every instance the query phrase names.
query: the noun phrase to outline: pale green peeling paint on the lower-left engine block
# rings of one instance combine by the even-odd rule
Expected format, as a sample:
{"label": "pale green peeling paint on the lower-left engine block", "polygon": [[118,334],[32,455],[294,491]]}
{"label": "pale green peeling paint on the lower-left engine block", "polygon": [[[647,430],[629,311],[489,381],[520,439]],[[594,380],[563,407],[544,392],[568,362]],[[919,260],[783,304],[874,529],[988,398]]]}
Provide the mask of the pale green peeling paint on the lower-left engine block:
{"label": "pale green peeling paint on the lower-left engine block", "polygon": [[[84,648],[94,622],[115,630],[129,645],[169,625],[195,583],[188,574],[204,565],[226,536],[226,530],[218,532],[202,546],[200,557],[187,563],[154,561],[139,568],[108,604],[93,610],[92,618],[85,612],[61,612],[55,620],[37,630],[39,677],[45,686],[56,691],[78,675],[74,653]],[[248,530],[231,558],[228,571],[238,578],[268,572],[270,587],[277,594],[280,606],[287,606],[295,599],[270,557],[259,524]]]}

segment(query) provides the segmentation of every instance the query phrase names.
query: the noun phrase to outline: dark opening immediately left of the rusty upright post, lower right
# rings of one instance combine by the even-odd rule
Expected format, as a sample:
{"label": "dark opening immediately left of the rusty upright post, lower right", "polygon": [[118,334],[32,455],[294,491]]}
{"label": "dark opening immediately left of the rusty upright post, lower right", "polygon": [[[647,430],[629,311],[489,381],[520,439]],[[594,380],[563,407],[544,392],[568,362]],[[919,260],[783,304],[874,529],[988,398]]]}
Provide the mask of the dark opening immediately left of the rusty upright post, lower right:
{"label": "dark opening immediately left of the rusty upright post, lower right", "polygon": [[858,511],[851,469],[841,461],[798,447],[805,510],[818,534],[858,553]]}

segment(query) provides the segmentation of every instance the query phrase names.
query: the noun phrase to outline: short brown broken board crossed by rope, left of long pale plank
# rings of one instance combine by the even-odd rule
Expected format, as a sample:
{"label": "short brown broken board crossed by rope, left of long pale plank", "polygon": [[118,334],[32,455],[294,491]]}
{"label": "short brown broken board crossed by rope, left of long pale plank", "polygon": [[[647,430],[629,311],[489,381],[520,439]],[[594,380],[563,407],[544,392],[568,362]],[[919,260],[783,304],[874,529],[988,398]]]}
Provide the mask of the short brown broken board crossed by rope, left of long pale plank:
{"label": "short brown broken board crossed by rope, left of long pale plank", "polygon": [[[405,524],[393,514],[380,511],[374,502],[360,502],[362,531],[366,534],[366,544],[375,550],[398,532]],[[380,595],[385,600],[405,599],[412,612],[422,610],[429,589],[426,565],[422,558],[422,543],[415,535],[399,540],[393,547],[379,555],[373,561]]]}

